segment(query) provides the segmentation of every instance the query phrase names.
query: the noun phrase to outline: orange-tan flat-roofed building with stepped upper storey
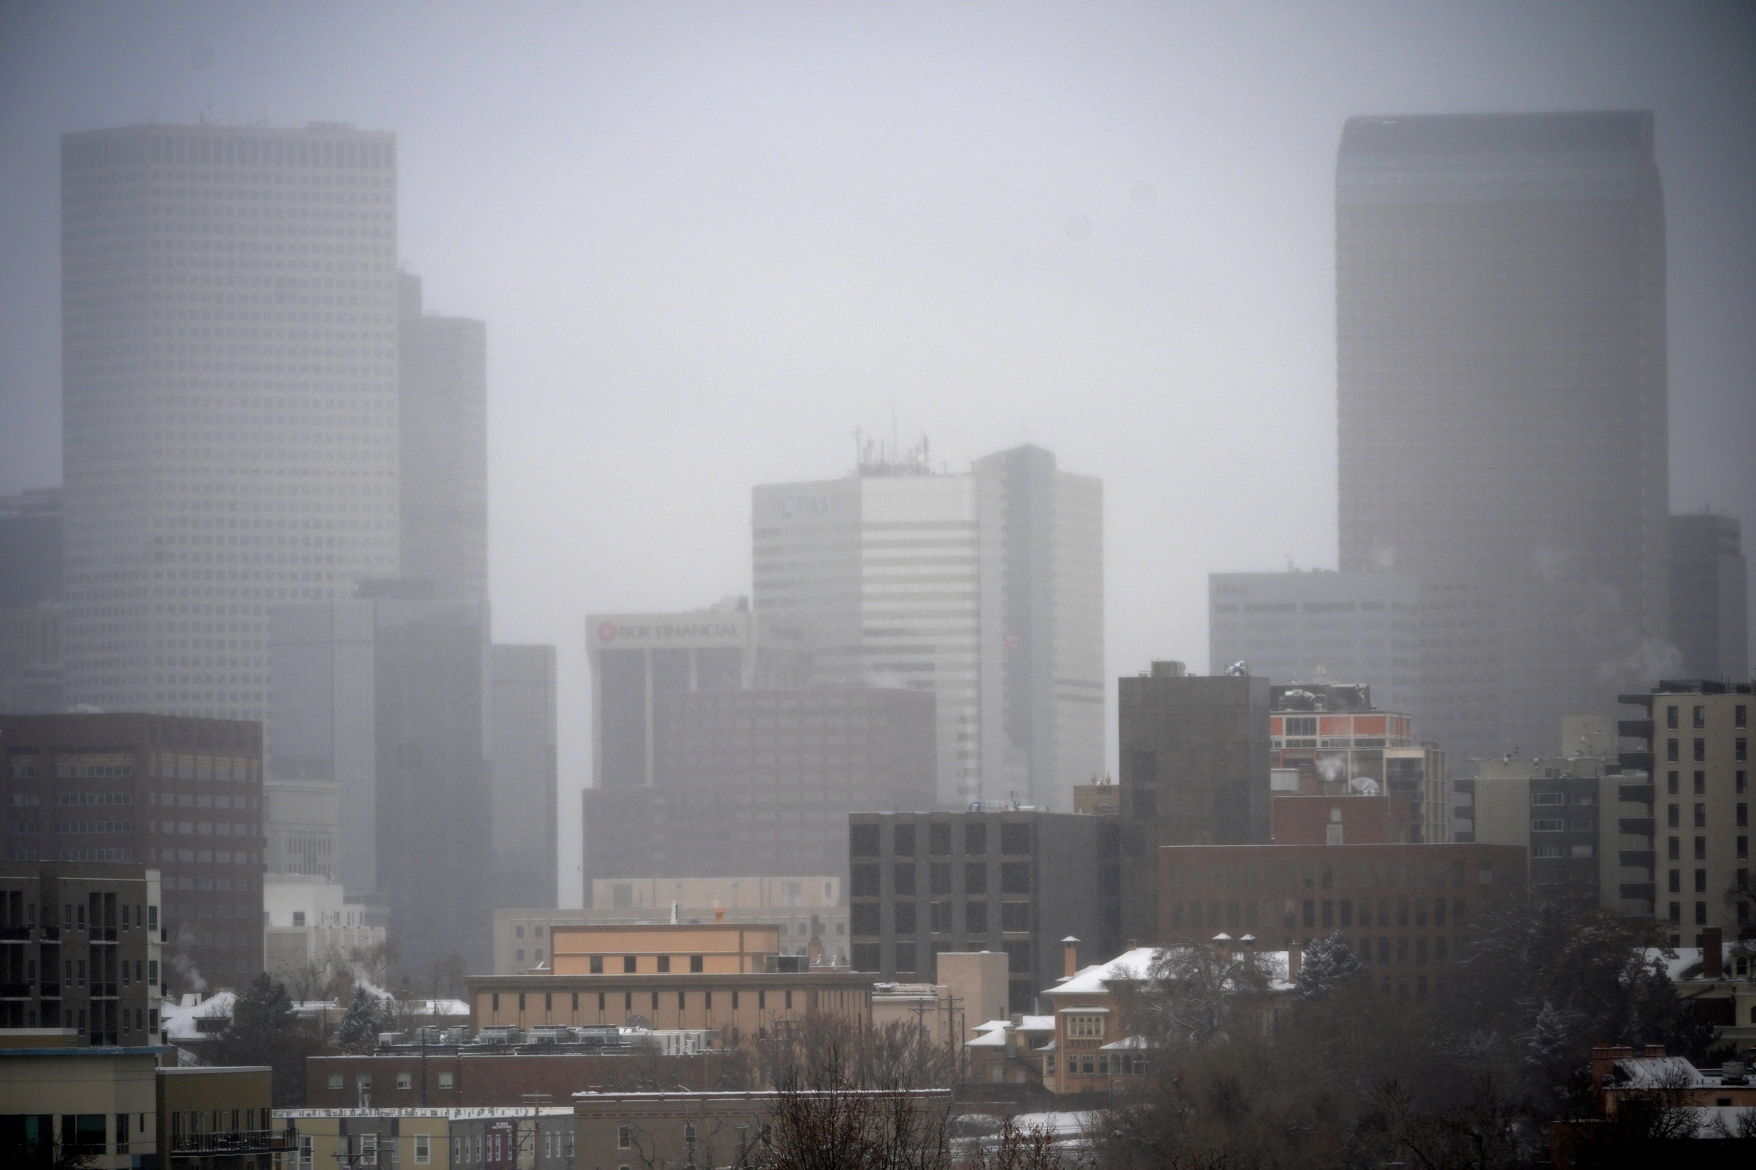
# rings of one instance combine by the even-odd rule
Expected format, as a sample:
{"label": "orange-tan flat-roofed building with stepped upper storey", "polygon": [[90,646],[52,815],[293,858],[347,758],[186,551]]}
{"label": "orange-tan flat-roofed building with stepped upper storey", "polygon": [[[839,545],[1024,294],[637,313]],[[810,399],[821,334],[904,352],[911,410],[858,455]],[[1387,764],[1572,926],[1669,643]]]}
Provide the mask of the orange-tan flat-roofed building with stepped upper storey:
{"label": "orange-tan flat-roofed building with stepped upper storey", "polygon": [[750,923],[558,926],[553,970],[469,981],[472,1028],[713,1030],[722,1044],[811,1016],[871,1021],[871,975],[781,956]]}

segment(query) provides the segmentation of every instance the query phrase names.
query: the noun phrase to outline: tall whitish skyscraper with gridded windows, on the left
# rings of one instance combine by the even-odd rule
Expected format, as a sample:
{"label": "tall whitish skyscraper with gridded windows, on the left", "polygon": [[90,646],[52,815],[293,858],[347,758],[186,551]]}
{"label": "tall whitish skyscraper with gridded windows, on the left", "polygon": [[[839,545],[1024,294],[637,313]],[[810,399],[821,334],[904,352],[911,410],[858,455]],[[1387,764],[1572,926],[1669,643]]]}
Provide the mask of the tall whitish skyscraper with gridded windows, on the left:
{"label": "tall whitish skyscraper with gridded windows, on the left", "polygon": [[265,609],[397,572],[395,151],[63,137],[68,702],[262,719]]}

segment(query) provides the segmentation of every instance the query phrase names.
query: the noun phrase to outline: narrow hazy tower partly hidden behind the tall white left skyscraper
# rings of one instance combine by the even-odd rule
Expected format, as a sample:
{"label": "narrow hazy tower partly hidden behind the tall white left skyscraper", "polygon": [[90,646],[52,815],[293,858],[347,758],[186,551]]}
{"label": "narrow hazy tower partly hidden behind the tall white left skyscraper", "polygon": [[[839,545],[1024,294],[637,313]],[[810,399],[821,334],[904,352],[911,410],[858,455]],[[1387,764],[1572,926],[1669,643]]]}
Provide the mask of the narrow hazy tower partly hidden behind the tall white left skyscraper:
{"label": "narrow hazy tower partly hidden behind the tall white left skyscraper", "polygon": [[421,312],[400,288],[402,575],[434,596],[488,596],[488,326]]}

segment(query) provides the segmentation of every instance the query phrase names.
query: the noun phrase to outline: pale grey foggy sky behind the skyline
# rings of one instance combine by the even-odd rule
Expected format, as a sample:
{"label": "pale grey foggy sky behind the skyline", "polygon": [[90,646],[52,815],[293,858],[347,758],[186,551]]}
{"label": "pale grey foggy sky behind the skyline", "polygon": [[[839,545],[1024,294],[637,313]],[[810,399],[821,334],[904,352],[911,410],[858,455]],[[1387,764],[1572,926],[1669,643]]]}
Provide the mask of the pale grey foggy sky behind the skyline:
{"label": "pale grey foggy sky behind the skyline", "polygon": [[576,905],[585,612],[748,593],[752,484],[894,417],[1103,477],[1108,674],[1199,670],[1208,572],[1335,565],[1342,121],[1561,109],[1658,112],[1672,510],[1749,546],[1738,4],[7,4],[0,493],[60,482],[61,132],[395,130],[427,307],[488,321],[495,640],[560,647]]}

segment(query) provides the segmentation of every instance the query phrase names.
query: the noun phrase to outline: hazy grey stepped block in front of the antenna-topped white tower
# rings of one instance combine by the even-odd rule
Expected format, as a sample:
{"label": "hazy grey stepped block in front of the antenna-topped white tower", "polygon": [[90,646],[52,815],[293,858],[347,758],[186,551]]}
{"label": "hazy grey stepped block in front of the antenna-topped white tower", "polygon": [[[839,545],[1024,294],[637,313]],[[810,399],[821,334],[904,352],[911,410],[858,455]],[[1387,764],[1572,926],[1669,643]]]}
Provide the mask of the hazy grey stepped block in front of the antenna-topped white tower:
{"label": "hazy grey stepped block in front of the antenna-topped white tower", "polygon": [[841,874],[846,816],[931,809],[934,700],[694,691],[657,710],[655,782],[585,791],[585,881]]}

